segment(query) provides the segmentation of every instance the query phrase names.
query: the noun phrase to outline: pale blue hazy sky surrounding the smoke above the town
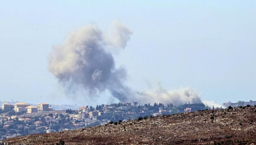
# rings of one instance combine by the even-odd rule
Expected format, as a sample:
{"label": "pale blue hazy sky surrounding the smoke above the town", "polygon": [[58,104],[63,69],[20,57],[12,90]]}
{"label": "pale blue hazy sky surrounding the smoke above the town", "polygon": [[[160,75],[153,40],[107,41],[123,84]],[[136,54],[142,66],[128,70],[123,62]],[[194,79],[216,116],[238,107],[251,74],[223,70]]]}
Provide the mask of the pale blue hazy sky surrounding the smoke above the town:
{"label": "pale blue hazy sky surrounding the smoke above the town", "polygon": [[161,81],[216,103],[256,100],[255,0],[2,1],[0,100],[81,103],[63,97],[47,57],[77,27],[93,23],[107,31],[113,20],[133,31],[114,55],[132,88]]}

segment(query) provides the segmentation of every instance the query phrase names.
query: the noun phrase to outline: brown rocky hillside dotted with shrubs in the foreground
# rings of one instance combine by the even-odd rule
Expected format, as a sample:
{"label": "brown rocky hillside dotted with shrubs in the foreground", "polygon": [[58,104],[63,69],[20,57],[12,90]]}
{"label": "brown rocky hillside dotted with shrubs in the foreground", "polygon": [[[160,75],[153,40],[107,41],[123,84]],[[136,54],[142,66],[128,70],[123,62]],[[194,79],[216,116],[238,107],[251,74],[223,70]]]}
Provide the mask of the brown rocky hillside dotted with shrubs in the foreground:
{"label": "brown rocky hillside dotted with shrubs in the foreground", "polygon": [[[211,117],[213,116],[213,117]],[[256,144],[256,107],[180,113],[36,134],[10,144]]]}

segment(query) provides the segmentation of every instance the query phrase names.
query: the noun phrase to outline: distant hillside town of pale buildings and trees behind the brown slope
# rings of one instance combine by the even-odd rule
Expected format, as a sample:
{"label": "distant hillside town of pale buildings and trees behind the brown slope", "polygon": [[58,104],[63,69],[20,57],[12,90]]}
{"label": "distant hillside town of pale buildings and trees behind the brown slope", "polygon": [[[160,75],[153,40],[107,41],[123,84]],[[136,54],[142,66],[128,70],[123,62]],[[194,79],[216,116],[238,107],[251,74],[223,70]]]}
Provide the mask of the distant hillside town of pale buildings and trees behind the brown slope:
{"label": "distant hillside town of pale buildings and trees behind the brown slope", "polygon": [[[256,101],[239,101],[224,103],[223,106],[238,107],[256,105]],[[67,106],[63,106],[64,108]],[[204,109],[222,109],[208,107],[204,104],[186,103],[180,106],[173,104],[138,105],[134,100],[127,103],[101,104],[92,106],[73,106],[77,109],[55,110],[48,103],[30,105],[18,102],[2,103],[0,109],[0,140],[28,134],[61,132],[71,129],[104,125],[109,122],[120,122],[146,116],[162,116],[176,113],[192,112]]]}

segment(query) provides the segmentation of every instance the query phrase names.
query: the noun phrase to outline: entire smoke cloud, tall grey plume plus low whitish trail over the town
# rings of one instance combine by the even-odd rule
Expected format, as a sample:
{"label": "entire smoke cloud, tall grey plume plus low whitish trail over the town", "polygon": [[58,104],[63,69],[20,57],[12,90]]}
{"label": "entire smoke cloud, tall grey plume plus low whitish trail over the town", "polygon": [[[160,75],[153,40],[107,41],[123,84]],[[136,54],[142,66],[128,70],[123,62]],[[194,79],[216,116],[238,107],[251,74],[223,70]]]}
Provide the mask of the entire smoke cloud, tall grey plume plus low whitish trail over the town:
{"label": "entire smoke cloud, tall grey plume plus low whitish trail over the town", "polygon": [[111,32],[107,34],[95,25],[83,26],[70,33],[62,45],[52,48],[48,70],[67,91],[76,91],[76,86],[82,85],[90,94],[109,91],[121,102],[136,98],[140,104],[202,103],[199,95],[190,88],[167,91],[160,87],[135,93],[126,86],[126,70],[115,66],[114,57],[106,47],[125,48],[132,31],[115,21]]}

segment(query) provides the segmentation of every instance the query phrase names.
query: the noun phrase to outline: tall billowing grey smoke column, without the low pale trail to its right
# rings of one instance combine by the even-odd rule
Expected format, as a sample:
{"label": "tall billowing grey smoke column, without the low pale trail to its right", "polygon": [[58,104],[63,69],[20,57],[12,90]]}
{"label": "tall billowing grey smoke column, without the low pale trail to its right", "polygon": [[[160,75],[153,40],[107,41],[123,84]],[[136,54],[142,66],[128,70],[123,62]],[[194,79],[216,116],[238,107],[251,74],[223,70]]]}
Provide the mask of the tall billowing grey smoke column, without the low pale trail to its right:
{"label": "tall billowing grey smoke column, without the low pale trail to its right", "polygon": [[132,34],[120,22],[113,23],[111,37],[95,25],[83,26],[72,32],[60,46],[52,48],[48,58],[48,70],[64,86],[83,85],[90,93],[109,90],[113,97],[126,101],[131,95],[124,85],[126,71],[115,67],[115,60],[104,47],[126,47]]}

